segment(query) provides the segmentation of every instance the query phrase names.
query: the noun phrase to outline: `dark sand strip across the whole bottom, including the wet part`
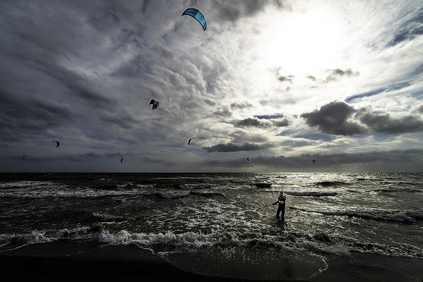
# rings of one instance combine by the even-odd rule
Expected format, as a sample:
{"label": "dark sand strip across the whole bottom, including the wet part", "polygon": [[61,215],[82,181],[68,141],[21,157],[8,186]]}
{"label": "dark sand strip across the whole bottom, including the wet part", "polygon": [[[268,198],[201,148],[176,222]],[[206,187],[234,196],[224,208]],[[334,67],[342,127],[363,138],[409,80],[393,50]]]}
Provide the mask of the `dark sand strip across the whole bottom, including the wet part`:
{"label": "dark sand strip across the whole bottom, including the wet part", "polygon": [[202,259],[204,252],[189,257],[173,253],[165,260],[134,245],[99,247],[95,243],[59,241],[2,251],[0,265],[2,277],[10,277],[7,281],[301,281],[295,279],[305,277],[303,281],[315,282],[423,282],[423,259],[352,254],[313,260],[307,254],[278,252],[278,256],[273,255],[275,259],[263,264],[258,263],[260,250],[234,250],[239,252],[234,257],[243,253],[244,259],[249,258],[244,262],[207,261]]}

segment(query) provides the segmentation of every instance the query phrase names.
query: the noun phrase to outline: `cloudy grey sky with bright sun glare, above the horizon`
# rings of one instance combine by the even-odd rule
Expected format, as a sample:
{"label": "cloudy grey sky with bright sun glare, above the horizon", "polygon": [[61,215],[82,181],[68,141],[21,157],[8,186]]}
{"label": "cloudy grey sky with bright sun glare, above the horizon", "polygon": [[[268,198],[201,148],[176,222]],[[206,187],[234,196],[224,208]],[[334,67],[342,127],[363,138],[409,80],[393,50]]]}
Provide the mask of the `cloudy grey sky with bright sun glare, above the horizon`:
{"label": "cloudy grey sky with bright sun glare, above the horizon", "polygon": [[423,172],[419,0],[1,1],[0,59],[0,172]]}

